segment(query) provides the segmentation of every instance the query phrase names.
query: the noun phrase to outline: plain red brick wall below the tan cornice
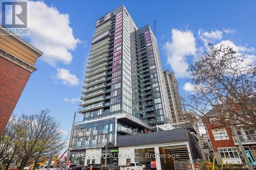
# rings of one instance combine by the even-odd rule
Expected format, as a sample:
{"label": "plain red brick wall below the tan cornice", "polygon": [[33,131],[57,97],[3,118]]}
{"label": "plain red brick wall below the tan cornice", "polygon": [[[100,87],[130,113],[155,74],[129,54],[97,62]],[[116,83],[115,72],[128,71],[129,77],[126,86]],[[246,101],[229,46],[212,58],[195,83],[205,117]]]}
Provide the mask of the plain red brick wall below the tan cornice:
{"label": "plain red brick wall below the tan cornice", "polygon": [[30,75],[30,71],[0,57],[0,135]]}

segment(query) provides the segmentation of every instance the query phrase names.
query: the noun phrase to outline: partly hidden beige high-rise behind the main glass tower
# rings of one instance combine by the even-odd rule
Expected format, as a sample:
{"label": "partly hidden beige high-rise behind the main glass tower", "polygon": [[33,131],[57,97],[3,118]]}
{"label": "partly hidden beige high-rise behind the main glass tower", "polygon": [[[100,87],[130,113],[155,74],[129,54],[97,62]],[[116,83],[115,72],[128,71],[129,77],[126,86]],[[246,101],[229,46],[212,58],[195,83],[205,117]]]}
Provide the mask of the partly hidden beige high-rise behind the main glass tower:
{"label": "partly hidden beige high-rise behind the main glass tower", "polygon": [[170,112],[172,113],[173,123],[181,122],[179,116],[184,113],[179,94],[179,83],[175,79],[174,73],[169,70],[163,71],[165,86],[167,89]]}

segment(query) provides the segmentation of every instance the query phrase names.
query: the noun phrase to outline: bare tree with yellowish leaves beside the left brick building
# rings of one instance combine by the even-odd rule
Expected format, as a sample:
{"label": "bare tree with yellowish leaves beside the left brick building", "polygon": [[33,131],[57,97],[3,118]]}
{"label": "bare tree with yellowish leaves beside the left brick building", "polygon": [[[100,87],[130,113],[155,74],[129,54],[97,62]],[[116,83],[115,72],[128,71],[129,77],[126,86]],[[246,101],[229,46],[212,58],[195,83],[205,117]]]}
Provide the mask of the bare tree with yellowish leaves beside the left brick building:
{"label": "bare tree with yellowish leaves beside the left brick building", "polygon": [[49,115],[49,109],[41,110],[37,115],[23,114],[18,119],[15,141],[19,169],[45,159],[50,154],[57,154],[66,145],[62,139],[60,124]]}

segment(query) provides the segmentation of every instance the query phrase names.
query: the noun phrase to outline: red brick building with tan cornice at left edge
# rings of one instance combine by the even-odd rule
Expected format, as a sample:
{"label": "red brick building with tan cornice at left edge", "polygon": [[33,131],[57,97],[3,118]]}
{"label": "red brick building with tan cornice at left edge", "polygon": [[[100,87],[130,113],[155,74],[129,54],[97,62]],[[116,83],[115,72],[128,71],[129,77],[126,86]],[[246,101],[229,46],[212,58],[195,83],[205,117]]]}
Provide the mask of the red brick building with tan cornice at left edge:
{"label": "red brick building with tan cornice at left edge", "polygon": [[0,26],[0,135],[42,52]]}

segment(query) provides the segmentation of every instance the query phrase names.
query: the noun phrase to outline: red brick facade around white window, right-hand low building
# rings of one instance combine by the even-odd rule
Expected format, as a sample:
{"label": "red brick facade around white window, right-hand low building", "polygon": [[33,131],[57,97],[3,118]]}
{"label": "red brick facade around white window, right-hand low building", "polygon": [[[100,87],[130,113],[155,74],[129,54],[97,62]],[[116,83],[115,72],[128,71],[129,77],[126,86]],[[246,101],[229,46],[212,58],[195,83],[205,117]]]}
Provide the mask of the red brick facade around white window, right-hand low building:
{"label": "red brick facade around white window, right-hand low building", "polygon": [[[209,135],[211,145],[212,145],[212,148],[214,149],[214,152],[218,152],[217,148],[235,147],[234,140],[232,138],[232,132],[228,126],[221,127],[221,128],[220,127],[215,128],[214,125],[211,125],[209,123],[209,119],[207,119],[207,118],[204,119],[204,125],[207,129],[207,133]],[[212,130],[217,130],[217,129],[226,129],[229,139],[228,140],[215,140],[214,135],[212,134]]]}

